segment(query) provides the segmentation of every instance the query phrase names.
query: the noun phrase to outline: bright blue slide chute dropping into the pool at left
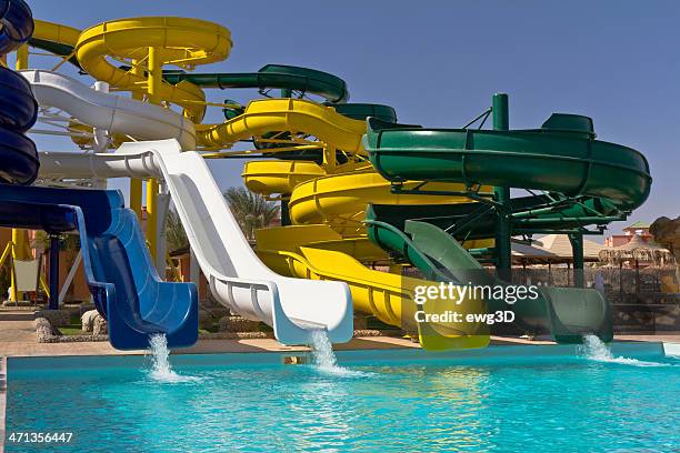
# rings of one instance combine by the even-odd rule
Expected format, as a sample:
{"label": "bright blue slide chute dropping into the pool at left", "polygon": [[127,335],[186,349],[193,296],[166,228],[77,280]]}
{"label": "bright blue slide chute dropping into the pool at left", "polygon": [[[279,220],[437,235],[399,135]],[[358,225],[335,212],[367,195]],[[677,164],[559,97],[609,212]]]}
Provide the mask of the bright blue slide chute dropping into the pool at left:
{"label": "bright blue slide chute dropping into the pool at left", "polygon": [[196,285],[160,280],[119,191],[4,185],[0,226],[80,233],[86,278],[113,348],[144,349],[156,333],[164,333],[170,348],[196,343]]}

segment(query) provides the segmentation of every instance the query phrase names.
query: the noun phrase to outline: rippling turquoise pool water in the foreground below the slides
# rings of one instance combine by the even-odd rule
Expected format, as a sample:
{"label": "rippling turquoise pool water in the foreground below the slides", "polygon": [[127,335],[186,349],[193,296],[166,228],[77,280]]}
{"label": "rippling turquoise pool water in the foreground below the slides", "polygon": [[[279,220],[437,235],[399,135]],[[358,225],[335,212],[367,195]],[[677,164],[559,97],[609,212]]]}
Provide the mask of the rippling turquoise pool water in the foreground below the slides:
{"label": "rippling turquoise pool water in the foreground below the slides", "polygon": [[349,353],[341,372],[194,363],[176,366],[176,382],[148,365],[10,362],[7,431],[72,432],[50,447],[78,452],[680,449],[680,360],[598,354],[413,363]]}

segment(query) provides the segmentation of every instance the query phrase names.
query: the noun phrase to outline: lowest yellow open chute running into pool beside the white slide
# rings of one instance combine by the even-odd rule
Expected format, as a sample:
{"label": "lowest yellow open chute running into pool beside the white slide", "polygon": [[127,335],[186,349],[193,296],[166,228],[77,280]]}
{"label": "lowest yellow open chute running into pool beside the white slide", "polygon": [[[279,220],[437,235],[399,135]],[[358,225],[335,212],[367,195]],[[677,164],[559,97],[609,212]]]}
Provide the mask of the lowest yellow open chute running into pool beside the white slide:
{"label": "lowest yellow open chute running into pool beside the white slide", "polygon": [[427,313],[450,310],[464,316],[467,313],[483,312],[484,302],[468,298],[460,305],[440,300],[417,305],[413,290],[420,285],[431,285],[432,282],[366,268],[358,259],[387,258],[366,238],[343,240],[328,225],[302,225],[259,230],[257,243],[258,256],[274,272],[301,279],[346,282],[352,293],[354,310],[372,314],[387,324],[411,333],[417,332],[421,345],[428,350],[483,348],[489,344],[487,330],[477,323],[416,323],[417,310]]}

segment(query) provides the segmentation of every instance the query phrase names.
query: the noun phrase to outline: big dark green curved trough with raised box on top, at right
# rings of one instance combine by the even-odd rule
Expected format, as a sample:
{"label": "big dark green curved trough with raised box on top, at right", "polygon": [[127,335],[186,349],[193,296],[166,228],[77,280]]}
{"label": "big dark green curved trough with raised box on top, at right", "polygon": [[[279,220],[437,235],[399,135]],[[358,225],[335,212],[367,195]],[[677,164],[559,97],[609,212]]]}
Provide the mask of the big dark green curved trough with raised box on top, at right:
{"label": "big dark green curved trough with raised box on top, at right", "polygon": [[363,144],[389,181],[460,182],[603,198],[631,211],[649,197],[644,157],[596,140],[590,118],[553,113],[540,129],[423,129],[368,120]]}

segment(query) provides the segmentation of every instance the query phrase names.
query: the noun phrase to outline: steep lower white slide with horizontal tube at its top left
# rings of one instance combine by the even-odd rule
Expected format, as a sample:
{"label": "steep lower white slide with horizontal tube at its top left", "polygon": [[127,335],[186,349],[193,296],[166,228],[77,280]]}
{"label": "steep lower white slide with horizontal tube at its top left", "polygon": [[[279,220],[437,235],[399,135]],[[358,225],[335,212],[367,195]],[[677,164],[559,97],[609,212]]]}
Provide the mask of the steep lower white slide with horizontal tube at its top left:
{"label": "steep lower white slide with horizontal tube at its top left", "polygon": [[40,175],[164,180],[212,294],[236,313],[271,325],[284,344],[309,341],[310,330],[333,342],[352,336],[352,302],[346,283],[291,279],[257,256],[212,179],[203,158],[176,140],[123,143],[114,153],[40,153]]}

